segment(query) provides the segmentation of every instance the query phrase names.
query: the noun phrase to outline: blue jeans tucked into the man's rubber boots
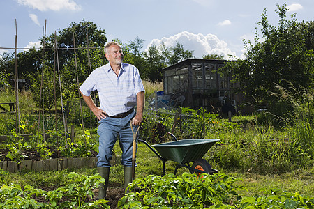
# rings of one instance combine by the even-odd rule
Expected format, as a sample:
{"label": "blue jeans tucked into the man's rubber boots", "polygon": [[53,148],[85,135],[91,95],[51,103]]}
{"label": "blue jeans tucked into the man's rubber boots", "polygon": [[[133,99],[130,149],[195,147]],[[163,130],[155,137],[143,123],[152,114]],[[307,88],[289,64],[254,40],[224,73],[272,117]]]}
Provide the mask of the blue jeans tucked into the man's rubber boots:
{"label": "blue jeans tucked into the man's rubber boots", "polygon": [[[122,150],[121,164],[132,167],[133,132],[130,127],[130,120],[135,116],[135,111],[124,118],[107,117],[99,121],[99,150],[97,155],[97,167],[111,167],[112,148],[117,141],[119,134],[119,144]],[[133,126],[134,133],[138,126]],[[137,134],[138,135],[138,134]],[[136,140],[137,150],[137,140]]]}

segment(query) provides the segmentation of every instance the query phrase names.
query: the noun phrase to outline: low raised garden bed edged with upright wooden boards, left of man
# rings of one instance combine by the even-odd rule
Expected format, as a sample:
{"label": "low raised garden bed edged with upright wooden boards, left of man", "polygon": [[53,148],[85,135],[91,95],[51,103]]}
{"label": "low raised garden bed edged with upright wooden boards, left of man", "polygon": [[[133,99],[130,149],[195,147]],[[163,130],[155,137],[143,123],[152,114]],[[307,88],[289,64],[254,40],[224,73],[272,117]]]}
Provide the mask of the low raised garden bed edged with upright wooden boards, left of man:
{"label": "low raised garden bed edged with upright wooden boards, left of man", "polygon": [[[0,136],[0,141],[6,141],[7,139],[8,136]],[[31,139],[31,134],[23,135],[22,139],[28,142]],[[90,147],[87,148],[90,150],[88,152],[80,153],[77,150],[77,153],[71,153],[71,155],[69,155],[69,153],[62,153],[62,151],[55,146],[47,146],[45,150],[36,150],[36,148],[27,146],[27,149],[23,150],[23,148],[21,148],[23,144],[24,142],[13,145],[13,148],[0,149],[0,169],[14,173],[21,170],[57,171],[63,169],[80,169],[82,167],[96,167],[96,156],[98,153],[95,150],[90,150]],[[74,149],[79,147],[76,145],[71,146]],[[87,149],[85,148],[84,150],[86,151]],[[40,151],[49,152],[50,155],[43,157],[43,153],[40,155]],[[120,162],[121,156],[117,155],[113,155],[110,161],[112,165],[119,164]]]}

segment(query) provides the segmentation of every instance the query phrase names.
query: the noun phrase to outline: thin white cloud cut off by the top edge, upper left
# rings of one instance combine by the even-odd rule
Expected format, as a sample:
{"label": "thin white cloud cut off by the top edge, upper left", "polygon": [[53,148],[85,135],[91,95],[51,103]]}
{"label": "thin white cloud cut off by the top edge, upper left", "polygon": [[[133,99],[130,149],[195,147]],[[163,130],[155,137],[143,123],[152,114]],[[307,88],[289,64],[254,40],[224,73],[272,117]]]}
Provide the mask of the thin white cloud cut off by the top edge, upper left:
{"label": "thin white cloud cut off by the top edge, upper left", "polygon": [[73,0],[16,0],[24,6],[29,6],[40,11],[80,10],[81,6]]}

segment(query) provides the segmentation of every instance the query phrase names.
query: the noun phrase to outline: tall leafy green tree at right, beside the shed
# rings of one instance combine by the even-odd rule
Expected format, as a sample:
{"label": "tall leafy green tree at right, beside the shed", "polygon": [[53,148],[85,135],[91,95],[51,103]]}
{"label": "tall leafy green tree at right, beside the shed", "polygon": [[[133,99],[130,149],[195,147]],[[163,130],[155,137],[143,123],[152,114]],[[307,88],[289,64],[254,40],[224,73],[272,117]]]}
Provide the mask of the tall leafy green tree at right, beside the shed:
{"label": "tall leafy green tree at right, beside the shed", "polygon": [[[301,29],[295,14],[286,19],[287,8],[278,6],[275,10],[279,17],[278,26],[271,26],[267,20],[267,10],[262,13],[261,34],[263,41],[255,32],[255,44],[244,41],[246,59],[228,62],[220,69],[225,75],[231,75],[238,82],[247,102],[253,105],[267,104],[270,109],[278,110],[278,102],[271,93],[276,86],[310,86],[314,84],[314,54],[308,49],[308,31]],[[308,28],[308,24],[305,24]],[[311,28],[311,27],[309,27]]]}

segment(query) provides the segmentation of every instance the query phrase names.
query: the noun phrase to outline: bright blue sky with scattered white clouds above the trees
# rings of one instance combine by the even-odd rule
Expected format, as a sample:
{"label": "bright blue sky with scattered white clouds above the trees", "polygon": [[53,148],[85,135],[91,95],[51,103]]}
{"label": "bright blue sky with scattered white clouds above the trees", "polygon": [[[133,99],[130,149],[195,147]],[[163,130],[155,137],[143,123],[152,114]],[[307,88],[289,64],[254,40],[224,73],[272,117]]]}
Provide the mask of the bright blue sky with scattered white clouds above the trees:
{"label": "bright blue sky with scattered white clouds above the trees", "polygon": [[[193,54],[243,54],[243,39],[252,40],[256,22],[264,8],[270,24],[277,25],[277,5],[290,8],[287,18],[296,13],[297,20],[314,20],[314,1],[281,0],[1,0],[0,47],[36,45],[47,36],[83,19],[105,29],[108,40],[129,42],[144,40],[144,49],[161,42],[172,46],[181,42]],[[1,52],[13,52],[0,49]]]}

